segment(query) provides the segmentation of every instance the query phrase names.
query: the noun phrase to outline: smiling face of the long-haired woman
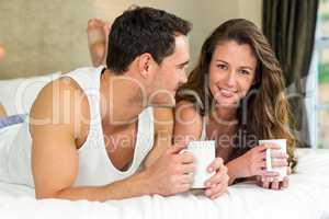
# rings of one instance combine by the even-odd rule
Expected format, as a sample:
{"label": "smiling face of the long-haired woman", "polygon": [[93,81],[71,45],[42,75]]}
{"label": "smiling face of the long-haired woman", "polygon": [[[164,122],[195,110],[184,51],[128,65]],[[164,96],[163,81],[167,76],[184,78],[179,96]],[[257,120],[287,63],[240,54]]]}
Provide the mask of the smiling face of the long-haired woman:
{"label": "smiling face of the long-haired woman", "polygon": [[248,44],[218,44],[209,64],[209,89],[216,106],[236,106],[254,82],[257,59]]}

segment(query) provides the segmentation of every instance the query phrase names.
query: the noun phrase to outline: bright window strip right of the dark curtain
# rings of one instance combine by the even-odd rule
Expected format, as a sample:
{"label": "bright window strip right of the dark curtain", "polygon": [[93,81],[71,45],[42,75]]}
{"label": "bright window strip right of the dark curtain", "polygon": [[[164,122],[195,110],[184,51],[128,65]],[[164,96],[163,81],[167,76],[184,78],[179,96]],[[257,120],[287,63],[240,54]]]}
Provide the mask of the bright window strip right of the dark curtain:
{"label": "bright window strip right of the dark curtain", "polygon": [[329,148],[329,0],[320,0],[315,50],[307,81],[311,145]]}

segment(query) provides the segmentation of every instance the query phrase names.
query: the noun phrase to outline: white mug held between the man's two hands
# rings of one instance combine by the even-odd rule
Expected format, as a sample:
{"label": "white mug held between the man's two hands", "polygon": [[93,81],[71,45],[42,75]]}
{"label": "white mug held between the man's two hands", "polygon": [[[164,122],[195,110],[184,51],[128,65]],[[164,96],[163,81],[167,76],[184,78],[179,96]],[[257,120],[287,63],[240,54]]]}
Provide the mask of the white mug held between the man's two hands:
{"label": "white mug held between the man's two hands", "polygon": [[215,141],[191,141],[188,145],[186,151],[194,155],[195,162],[192,188],[204,188],[205,181],[214,175],[214,172],[207,172],[207,168],[215,160]]}

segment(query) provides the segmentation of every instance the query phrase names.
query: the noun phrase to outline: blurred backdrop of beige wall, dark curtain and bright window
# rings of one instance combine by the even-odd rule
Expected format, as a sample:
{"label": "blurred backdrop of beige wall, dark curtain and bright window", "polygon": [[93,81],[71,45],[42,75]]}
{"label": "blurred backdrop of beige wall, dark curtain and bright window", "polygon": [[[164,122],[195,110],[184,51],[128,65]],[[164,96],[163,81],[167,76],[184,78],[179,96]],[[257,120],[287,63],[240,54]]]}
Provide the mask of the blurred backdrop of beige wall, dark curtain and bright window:
{"label": "blurred backdrop of beige wall, dark curtain and bright window", "polygon": [[303,147],[329,148],[329,0],[1,0],[0,80],[90,66],[87,22],[132,4],[189,20],[190,69],[211,32],[232,18],[256,23],[280,60]]}

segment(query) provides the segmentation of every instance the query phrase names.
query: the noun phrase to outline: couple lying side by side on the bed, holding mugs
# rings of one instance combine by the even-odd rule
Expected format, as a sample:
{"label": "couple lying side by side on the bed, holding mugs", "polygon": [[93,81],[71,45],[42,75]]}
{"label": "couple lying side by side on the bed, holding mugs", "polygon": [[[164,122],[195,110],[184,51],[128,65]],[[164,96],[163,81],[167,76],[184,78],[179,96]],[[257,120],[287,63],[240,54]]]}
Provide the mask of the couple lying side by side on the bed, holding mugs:
{"label": "couple lying side by side on the bed, holding mugs", "polygon": [[[103,28],[94,20],[89,30],[98,25]],[[205,196],[217,198],[240,178],[254,177],[273,189],[287,186],[287,177],[277,182],[277,173],[264,170],[265,149],[277,146],[257,141],[287,139],[290,157],[273,152],[272,165],[292,163],[295,139],[283,74],[251,22],[218,26],[189,79],[189,22],[135,8],[113,22],[109,38],[103,31],[89,32],[89,39],[99,44],[97,50],[90,46],[92,60],[99,65],[106,57],[106,68],[77,69],[41,91],[11,146],[20,147],[12,150],[20,159],[13,152],[7,161],[26,174],[8,170],[7,181],[35,186],[37,198],[169,196],[192,184],[194,158],[180,153],[186,141],[215,139]]]}

